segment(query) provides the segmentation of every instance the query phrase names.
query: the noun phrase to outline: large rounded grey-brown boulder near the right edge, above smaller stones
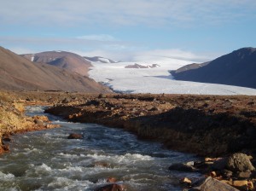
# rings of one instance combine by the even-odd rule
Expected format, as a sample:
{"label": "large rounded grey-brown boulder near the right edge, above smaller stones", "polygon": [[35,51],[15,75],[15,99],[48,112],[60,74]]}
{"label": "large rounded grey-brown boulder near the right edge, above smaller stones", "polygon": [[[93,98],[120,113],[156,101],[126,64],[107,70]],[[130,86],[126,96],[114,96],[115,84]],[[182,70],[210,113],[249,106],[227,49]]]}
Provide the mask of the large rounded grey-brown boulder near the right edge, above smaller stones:
{"label": "large rounded grey-brown boulder near the right edge, above smaller stones", "polygon": [[232,154],[227,160],[226,168],[233,172],[255,170],[247,154],[244,153]]}

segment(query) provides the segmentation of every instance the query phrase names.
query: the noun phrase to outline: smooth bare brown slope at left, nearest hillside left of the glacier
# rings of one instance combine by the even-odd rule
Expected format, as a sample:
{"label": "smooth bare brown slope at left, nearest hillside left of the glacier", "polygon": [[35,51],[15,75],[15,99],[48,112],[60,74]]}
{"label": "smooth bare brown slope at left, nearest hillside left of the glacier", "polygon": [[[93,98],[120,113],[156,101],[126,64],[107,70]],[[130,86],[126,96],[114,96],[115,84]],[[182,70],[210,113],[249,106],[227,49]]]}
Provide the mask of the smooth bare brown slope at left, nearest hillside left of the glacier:
{"label": "smooth bare brown slope at left, nearest hillside left of the glacier", "polygon": [[93,79],[48,64],[35,64],[0,47],[0,89],[108,92]]}

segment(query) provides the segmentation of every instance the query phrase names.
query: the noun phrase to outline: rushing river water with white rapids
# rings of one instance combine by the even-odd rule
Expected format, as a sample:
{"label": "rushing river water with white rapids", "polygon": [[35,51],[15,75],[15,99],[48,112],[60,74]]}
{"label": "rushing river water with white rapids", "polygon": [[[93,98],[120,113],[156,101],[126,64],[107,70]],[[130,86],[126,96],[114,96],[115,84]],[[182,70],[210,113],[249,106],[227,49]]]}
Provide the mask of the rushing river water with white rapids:
{"label": "rushing river water with white rapids", "polygon": [[[28,115],[43,113],[44,107],[27,107]],[[94,190],[107,177],[127,190],[182,190],[181,177],[201,177],[168,171],[172,163],[195,159],[190,154],[138,141],[124,130],[49,119],[62,127],[15,136],[11,152],[0,157],[0,190]],[[84,138],[67,139],[70,133]]]}

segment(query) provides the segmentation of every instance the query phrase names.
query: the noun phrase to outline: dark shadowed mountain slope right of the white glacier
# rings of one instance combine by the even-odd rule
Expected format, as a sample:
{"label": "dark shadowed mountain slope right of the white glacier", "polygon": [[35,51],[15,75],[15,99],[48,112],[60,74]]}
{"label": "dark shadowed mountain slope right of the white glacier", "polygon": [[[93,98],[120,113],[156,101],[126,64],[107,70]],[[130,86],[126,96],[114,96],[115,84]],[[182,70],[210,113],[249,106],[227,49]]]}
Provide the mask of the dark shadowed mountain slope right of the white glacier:
{"label": "dark shadowed mountain slope right of the white glacier", "polygon": [[237,49],[213,61],[172,71],[177,80],[229,84],[256,89],[256,49]]}

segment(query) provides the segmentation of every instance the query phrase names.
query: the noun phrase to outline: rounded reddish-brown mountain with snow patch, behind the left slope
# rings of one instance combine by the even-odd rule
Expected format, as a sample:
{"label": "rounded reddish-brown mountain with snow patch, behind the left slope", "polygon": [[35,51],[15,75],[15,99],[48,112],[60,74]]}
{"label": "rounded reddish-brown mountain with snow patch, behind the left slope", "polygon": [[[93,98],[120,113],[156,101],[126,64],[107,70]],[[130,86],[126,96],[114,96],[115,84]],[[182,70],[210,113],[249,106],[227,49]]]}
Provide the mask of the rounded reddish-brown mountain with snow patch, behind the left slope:
{"label": "rounded reddish-brown mountain with snow patch, behind the left slope", "polygon": [[61,67],[72,72],[77,72],[83,76],[88,76],[90,61],[82,56],[65,51],[48,51],[37,54],[22,55],[29,61],[47,63],[55,67]]}

